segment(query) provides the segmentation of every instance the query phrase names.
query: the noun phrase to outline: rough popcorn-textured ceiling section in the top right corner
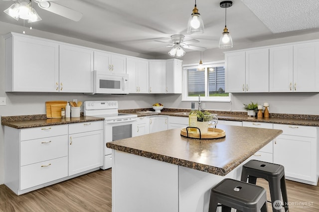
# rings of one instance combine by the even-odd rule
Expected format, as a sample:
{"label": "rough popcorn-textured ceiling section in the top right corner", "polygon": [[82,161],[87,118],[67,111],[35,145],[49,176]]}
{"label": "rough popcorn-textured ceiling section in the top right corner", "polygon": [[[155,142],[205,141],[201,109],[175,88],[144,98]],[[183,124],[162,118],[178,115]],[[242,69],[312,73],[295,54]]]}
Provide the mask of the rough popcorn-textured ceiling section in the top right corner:
{"label": "rough popcorn-textured ceiling section in the top right corner", "polygon": [[319,0],[242,0],[273,33],[319,28]]}

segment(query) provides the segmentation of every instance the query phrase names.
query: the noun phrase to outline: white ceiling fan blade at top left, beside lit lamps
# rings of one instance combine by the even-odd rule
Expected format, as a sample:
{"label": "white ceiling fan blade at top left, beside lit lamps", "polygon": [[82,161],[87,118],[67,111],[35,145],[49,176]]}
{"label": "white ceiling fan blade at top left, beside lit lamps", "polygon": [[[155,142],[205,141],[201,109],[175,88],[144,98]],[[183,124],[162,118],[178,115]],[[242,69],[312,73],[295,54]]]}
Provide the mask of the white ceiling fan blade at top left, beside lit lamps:
{"label": "white ceiling fan blade at top left, beside lit lamps", "polygon": [[48,10],[50,12],[57,14],[57,15],[61,15],[63,17],[69,18],[69,19],[74,20],[74,21],[79,21],[83,16],[83,14],[81,12],[75,11],[71,8],[68,8],[66,6],[62,6],[62,5],[54,3],[54,2],[39,1],[38,5],[42,9]]}

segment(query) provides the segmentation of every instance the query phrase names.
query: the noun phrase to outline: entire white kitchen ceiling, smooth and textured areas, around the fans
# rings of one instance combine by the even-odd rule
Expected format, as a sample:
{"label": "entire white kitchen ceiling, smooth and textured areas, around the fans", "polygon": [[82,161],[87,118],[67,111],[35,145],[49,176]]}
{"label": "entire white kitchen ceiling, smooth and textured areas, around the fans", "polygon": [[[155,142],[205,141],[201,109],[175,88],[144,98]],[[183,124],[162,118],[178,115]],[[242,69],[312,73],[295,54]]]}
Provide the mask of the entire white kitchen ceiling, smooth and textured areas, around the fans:
{"label": "entire white kitchen ceiling, smooth and textured areas, around the fans", "polygon": [[[82,12],[83,18],[78,22],[43,10],[33,2],[42,20],[33,23],[32,28],[151,57],[169,58],[167,52],[170,49],[156,41],[170,42],[173,34],[185,35],[185,41],[199,40],[194,44],[196,46],[218,49],[219,37],[225,25],[225,9],[219,6],[220,1],[197,0],[197,8],[205,25],[205,32],[198,35],[186,34],[187,21],[195,0],[54,1]],[[2,12],[13,2],[0,0],[0,28],[3,22],[23,26],[23,20],[16,21]],[[234,48],[296,33],[318,32],[318,3],[319,0],[233,0],[233,5],[227,8],[227,28]],[[29,25],[26,23],[26,26]],[[25,31],[36,36],[34,30],[26,28]],[[192,50],[186,50],[186,54],[189,51]]]}

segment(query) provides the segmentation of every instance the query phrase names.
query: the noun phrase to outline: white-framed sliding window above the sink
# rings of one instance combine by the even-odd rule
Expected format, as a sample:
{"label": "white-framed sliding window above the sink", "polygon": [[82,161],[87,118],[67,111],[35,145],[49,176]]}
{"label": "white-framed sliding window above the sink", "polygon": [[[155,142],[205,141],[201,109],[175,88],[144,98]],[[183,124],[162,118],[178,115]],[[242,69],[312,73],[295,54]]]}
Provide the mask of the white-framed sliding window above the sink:
{"label": "white-framed sliding window above the sink", "polygon": [[197,100],[198,95],[205,101],[230,101],[225,93],[224,63],[209,63],[199,70],[197,65],[183,67],[183,99]]}

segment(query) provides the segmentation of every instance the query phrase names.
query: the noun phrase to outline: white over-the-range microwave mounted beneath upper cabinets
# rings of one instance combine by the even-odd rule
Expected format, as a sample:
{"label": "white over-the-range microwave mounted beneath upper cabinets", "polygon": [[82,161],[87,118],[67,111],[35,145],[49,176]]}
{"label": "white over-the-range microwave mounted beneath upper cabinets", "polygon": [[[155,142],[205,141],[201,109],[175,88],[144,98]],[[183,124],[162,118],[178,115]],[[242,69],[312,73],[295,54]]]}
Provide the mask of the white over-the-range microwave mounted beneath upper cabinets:
{"label": "white over-the-range microwave mounted beneath upper cabinets", "polygon": [[129,75],[126,73],[106,73],[94,71],[93,94],[128,94]]}

